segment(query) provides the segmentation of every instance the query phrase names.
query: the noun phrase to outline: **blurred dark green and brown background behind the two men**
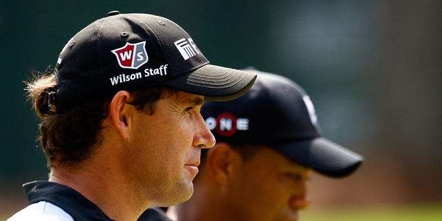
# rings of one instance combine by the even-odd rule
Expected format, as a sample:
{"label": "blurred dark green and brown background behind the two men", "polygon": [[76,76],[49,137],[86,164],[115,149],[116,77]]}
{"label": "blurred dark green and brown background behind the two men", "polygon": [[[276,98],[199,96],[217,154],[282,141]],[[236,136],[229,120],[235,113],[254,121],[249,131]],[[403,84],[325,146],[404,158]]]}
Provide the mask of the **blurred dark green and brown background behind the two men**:
{"label": "blurred dark green and brown background behind the two men", "polygon": [[323,135],[366,158],[345,179],[313,175],[312,211],[442,211],[442,1],[1,0],[0,219],[26,205],[21,184],[48,173],[22,81],[111,10],[169,18],[212,64],[254,66],[305,88]]}

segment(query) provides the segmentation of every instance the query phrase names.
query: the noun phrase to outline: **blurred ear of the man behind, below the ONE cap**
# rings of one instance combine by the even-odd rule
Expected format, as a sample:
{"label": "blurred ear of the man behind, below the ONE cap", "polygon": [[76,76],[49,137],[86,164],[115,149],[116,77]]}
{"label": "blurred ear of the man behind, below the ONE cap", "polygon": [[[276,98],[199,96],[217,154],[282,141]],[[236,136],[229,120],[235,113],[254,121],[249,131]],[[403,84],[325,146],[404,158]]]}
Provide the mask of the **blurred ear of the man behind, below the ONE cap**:
{"label": "blurred ear of the man behind, below the ONE cap", "polygon": [[240,155],[229,144],[220,142],[207,151],[205,164],[211,178],[218,184],[227,186],[230,177],[236,172],[234,170],[238,160],[241,160]]}

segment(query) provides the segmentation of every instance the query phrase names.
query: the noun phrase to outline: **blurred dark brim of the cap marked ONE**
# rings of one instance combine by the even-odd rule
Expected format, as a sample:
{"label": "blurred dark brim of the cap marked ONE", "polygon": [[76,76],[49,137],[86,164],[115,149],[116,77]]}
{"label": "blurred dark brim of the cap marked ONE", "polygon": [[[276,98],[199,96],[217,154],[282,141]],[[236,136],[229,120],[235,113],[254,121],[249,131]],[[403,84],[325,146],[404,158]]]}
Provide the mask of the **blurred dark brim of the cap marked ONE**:
{"label": "blurred dark brim of the cap marked ONE", "polygon": [[329,177],[344,177],[355,171],[364,158],[358,153],[335,144],[323,137],[313,140],[294,142],[272,146],[272,148],[289,157],[289,159],[327,175]]}

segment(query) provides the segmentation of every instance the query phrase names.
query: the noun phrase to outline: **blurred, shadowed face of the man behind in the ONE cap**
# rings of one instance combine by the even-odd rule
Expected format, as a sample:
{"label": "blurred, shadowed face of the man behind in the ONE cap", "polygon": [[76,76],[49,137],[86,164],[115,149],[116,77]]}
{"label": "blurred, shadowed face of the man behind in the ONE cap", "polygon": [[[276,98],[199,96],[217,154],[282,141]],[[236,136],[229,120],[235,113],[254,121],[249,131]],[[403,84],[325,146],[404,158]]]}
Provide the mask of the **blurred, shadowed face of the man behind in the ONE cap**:
{"label": "blurred, shadowed face of the man behind in the ONE cap", "polygon": [[308,206],[310,169],[267,147],[237,166],[228,194],[240,220],[298,220],[298,210]]}

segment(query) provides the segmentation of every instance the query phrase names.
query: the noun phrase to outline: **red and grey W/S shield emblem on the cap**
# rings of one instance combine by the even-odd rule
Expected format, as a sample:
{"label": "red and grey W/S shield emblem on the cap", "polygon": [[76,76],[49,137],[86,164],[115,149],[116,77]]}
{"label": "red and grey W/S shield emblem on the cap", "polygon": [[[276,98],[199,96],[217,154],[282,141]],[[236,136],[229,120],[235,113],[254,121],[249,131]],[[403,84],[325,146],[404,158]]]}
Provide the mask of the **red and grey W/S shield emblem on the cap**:
{"label": "red and grey W/S shield emblem on the cap", "polygon": [[117,56],[118,64],[122,68],[137,69],[148,61],[146,41],[131,44],[126,43],[122,48],[112,50]]}

